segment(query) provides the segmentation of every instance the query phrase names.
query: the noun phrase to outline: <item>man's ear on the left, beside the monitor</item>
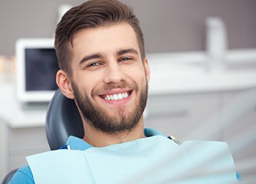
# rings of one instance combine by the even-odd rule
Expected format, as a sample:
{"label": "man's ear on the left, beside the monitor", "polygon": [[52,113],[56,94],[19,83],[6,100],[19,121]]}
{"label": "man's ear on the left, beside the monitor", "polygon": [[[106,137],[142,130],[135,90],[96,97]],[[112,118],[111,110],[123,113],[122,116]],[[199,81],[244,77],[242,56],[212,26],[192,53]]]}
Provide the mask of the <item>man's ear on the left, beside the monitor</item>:
{"label": "man's ear on the left, beside the monitor", "polygon": [[58,70],[56,74],[56,83],[66,98],[74,99],[74,91],[72,89],[70,79],[65,71]]}

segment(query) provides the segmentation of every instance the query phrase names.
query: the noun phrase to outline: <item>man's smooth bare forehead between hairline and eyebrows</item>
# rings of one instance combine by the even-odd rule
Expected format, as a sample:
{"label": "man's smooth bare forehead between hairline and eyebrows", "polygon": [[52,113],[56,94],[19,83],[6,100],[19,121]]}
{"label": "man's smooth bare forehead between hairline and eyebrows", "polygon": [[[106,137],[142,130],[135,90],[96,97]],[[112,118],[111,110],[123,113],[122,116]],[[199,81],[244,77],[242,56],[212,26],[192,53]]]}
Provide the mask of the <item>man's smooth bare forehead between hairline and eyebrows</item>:
{"label": "man's smooth bare forehead between hairline and eyebrows", "polygon": [[95,52],[110,53],[114,50],[130,47],[139,52],[134,29],[128,23],[119,23],[79,30],[74,34],[70,50],[75,57],[79,54],[93,54]]}

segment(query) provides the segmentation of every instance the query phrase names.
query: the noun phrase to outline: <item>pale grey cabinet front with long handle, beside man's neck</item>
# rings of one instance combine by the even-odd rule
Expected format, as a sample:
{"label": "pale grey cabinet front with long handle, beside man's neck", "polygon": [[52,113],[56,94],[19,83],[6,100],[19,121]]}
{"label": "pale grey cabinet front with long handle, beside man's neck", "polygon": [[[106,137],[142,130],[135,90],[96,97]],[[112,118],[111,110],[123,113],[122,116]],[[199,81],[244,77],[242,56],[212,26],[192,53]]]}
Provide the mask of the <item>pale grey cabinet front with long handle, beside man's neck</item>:
{"label": "pale grey cabinet front with long handle, beside man's neck", "polygon": [[218,94],[151,95],[145,126],[185,140],[222,140]]}

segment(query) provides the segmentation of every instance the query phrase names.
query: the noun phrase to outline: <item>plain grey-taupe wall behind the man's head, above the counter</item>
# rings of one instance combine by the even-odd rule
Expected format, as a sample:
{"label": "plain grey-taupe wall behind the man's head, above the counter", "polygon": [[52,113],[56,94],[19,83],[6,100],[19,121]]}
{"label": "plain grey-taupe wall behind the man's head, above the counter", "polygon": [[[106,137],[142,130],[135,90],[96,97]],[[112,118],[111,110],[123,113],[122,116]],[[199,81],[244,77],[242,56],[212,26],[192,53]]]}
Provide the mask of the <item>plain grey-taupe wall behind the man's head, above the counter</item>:
{"label": "plain grey-taupe wall behind the man's head, above the counter", "polygon": [[[14,55],[18,38],[48,38],[54,35],[58,8],[83,1],[45,2],[2,0],[0,2],[0,54]],[[254,0],[123,0],[134,8],[145,34],[147,52],[177,52],[206,49],[205,19],[221,17],[226,23],[230,49],[256,47]]]}

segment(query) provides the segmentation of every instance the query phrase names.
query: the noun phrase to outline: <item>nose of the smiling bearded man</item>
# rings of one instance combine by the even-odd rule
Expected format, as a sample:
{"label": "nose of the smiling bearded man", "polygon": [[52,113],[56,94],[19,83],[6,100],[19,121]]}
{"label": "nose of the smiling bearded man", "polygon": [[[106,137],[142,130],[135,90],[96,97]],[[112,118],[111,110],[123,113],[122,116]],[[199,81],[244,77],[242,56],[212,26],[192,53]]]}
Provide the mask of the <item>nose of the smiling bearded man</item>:
{"label": "nose of the smiling bearded man", "polygon": [[106,74],[104,82],[118,84],[125,79],[125,74],[122,66],[118,65],[118,62],[111,62],[106,67]]}

